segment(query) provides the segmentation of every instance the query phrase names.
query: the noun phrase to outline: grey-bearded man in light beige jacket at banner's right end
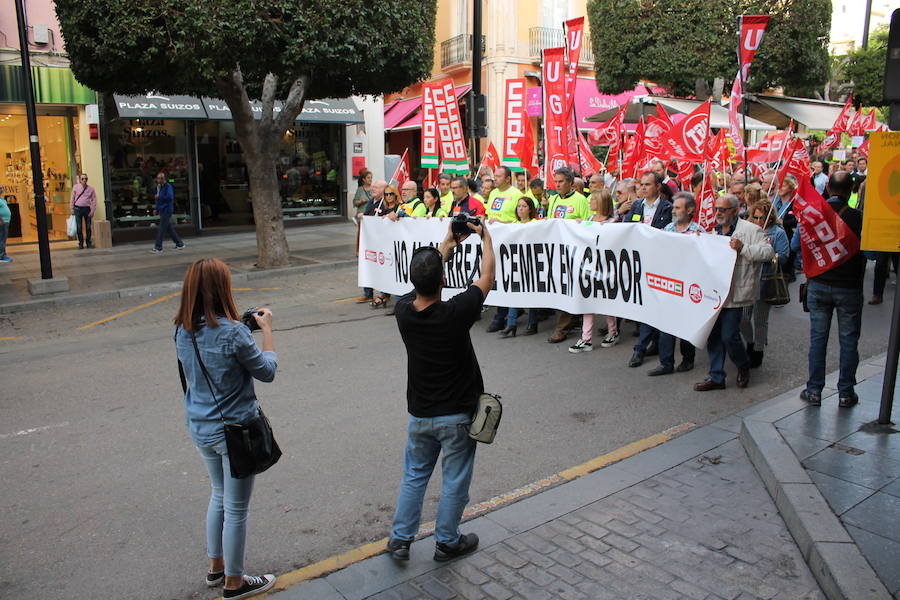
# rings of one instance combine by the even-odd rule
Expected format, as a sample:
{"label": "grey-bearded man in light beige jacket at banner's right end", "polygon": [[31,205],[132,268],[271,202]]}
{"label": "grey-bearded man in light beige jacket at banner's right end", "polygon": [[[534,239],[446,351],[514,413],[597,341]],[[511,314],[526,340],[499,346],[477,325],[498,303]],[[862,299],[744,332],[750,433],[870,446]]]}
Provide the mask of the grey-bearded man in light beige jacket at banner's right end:
{"label": "grey-bearded man in light beige jacket at banner's right end", "polygon": [[731,290],[706,342],[709,376],[694,384],[698,392],[725,389],[726,352],[738,369],[737,386],[745,388],[750,383],[750,357],[741,338],[741,317],[744,307],[752,306],[759,297],[760,271],[763,263],[775,256],[775,250],[762,229],[738,218],[738,205],[733,194],[716,198],[716,234],[731,238],[728,245],[737,252],[737,262],[731,276]]}

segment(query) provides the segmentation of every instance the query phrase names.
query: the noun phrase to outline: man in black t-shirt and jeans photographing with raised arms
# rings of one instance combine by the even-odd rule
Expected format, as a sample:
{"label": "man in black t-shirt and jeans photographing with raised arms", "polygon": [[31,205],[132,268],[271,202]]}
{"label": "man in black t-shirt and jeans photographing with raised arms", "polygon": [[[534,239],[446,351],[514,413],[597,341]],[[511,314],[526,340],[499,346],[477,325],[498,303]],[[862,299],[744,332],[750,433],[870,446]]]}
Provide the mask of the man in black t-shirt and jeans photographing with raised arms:
{"label": "man in black t-shirt and jeans photographing with raised arms", "polygon": [[450,560],[478,547],[477,535],[459,531],[475,465],[476,442],[468,436],[469,425],[484,391],[469,329],[494,285],[494,248],[483,223],[468,227],[481,237],[478,281],[450,300],[441,300],[444,263],[470,235],[455,236],[448,227],[437,249],[424,246],[413,252],[409,274],[415,290],[400,298],[395,308],[406,346],[409,411],[403,481],[387,546],[397,560],[409,559],[425,488],[440,454],[443,488],[435,519],[434,560]]}

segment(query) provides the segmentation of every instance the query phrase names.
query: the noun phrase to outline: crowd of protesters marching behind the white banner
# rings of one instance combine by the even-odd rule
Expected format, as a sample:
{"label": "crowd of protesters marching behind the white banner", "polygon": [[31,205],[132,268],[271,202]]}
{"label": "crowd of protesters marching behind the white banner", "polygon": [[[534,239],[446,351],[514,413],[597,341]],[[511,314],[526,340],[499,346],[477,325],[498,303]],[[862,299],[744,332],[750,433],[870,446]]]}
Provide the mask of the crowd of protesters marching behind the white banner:
{"label": "crowd of protesters marching behind the white banner", "polygon": [[[857,219],[860,214],[857,209],[861,211],[863,208],[867,160],[854,153],[846,161],[836,160],[827,164],[817,160],[810,166],[812,185],[859,236],[857,225],[861,226],[861,217]],[[360,189],[365,188],[365,191],[357,193],[354,204],[361,215],[382,216],[391,220],[435,218],[463,212],[481,217],[488,223],[527,225],[543,219],[572,219],[579,223],[631,223],[670,232],[700,234],[702,230],[696,223],[695,214],[700,188],[704,183],[703,175],[697,169],[691,189],[682,190],[674,169],[669,167],[662,160],[654,160],[638,177],[622,179],[607,173],[581,177],[563,167],[552,173],[554,185],[551,187],[555,189],[547,189],[539,177],[531,178],[527,172],[512,172],[508,167],[500,166],[493,172],[482,168],[479,176],[473,179],[442,173],[437,178],[437,188],[420,189],[409,180],[403,184],[399,194],[383,180],[371,182],[371,174],[366,172],[360,177]],[[793,196],[798,188],[796,178],[787,175],[779,182],[775,168],[750,173],[737,169],[732,173],[718,174],[712,184],[716,195],[716,225],[709,233],[729,236],[729,243],[738,253],[738,260],[731,292],[707,343],[709,375],[694,386],[697,391],[726,387],[726,355],[737,368],[737,386],[746,387],[749,384],[750,369],[762,364],[768,344],[769,313],[773,303],[767,302],[766,296],[772,294],[773,273],[781,271],[784,279],[791,283],[796,281],[797,273],[802,272],[800,227],[793,207]],[[891,266],[897,270],[898,255],[872,253],[869,258],[876,261],[869,304],[879,304],[883,301]],[[858,362],[856,345],[863,303],[865,259],[860,254],[849,262],[855,266],[845,268],[844,278],[835,280],[828,276],[829,271],[821,276],[822,286],[837,295],[842,290],[853,290],[854,298],[859,296],[859,310],[850,310],[846,302],[842,304],[831,296],[827,300],[817,296],[818,300],[812,301],[819,311],[810,309],[810,381],[807,385],[809,392],[804,397],[813,404],[821,395],[818,365],[821,363],[821,369],[824,369],[824,342],[827,342],[827,325],[831,322],[832,309],[837,311],[841,324],[841,405],[854,403],[852,386]],[[811,292],[817,290],[816,279],[819,278],[811,278],[809,282]],[[794,291],[793,295],[796,297],[797,292]],[[388,314],[393,314],[389,294],[376,294],[371,289],[365,289],[357,300],[359,303],[369,303],[372,308],[387,308]],[[816,302],[819,304],[816,305]],[[497,307],[487,331],[496,332],[502,338],[516,337],[518,321],[523,313],[527,313],[527,320],[521,335],[538,333],[539,323],[549,320],[553,324],[547,339],[549,343],[558,344],[574,338],[569,352],[580,354],[593,350],[593,314],[572,315],[549,309],[526,311],[515,307]],[[610,348],[620,343],[624,335],[623,325],[622,319],[605,315],[600,320],[600,347]],[[659,364],[647,372],[650,376],[694,368],[695,349],[686,340],[680,340],[681,361],[676,365],[676,340],[672,335],[641,323],[634,323],[630,330],[637,340],[628,361],[629,367],[638,367],[647,357],[658,355]]]}

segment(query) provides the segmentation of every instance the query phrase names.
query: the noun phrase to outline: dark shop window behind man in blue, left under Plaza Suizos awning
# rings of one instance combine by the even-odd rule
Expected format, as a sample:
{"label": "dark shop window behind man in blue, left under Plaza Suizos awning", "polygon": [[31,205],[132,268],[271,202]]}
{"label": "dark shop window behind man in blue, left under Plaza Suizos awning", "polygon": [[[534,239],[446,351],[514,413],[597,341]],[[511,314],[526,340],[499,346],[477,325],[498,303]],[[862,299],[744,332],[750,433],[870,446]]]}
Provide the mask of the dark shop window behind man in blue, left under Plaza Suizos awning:
{"label": "dark shop window behind man in blue, left under Plaza Suizos awning", "polygon": [[185,121],[121,119],[109,123],[110,190],[116,227],[156,226],[156,174],[175,188],[176,224],[191,223]]}

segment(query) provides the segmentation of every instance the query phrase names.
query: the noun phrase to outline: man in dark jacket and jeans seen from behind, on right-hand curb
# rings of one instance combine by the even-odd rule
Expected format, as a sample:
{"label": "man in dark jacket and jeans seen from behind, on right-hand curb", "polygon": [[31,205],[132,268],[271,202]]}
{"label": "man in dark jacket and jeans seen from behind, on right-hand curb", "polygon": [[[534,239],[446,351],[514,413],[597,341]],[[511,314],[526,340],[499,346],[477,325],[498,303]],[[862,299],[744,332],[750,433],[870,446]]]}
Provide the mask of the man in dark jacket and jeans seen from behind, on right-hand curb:
{"label": "man in dark jacket and jeans seen from behind, on right-hand curb", "polygon": [[[838,171],[828,179],[828,204],[856,234],[862,235],[862,213],[850,208],[852,177],[847,171]],[[803,225],[801,224],[802,228]],[[866,274],[866,258],[857,252],[848,260],[824,273],[811,277],[807,288],[809,306],[809,379],[800,397],[812,406],[822,404],[822,388],[825,387],[825,349],[831,316],[837,311],[838,341],[841,346],[840,375],[838,377],[838,404],[850,407],[859,401],[853,390],[856,385],[856,367],[859,365],[859,332],[862,327],[863,278]]]}

